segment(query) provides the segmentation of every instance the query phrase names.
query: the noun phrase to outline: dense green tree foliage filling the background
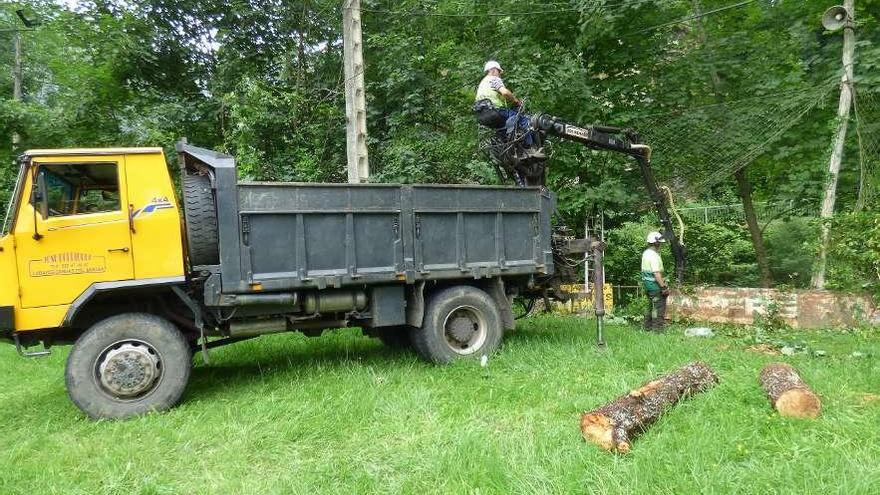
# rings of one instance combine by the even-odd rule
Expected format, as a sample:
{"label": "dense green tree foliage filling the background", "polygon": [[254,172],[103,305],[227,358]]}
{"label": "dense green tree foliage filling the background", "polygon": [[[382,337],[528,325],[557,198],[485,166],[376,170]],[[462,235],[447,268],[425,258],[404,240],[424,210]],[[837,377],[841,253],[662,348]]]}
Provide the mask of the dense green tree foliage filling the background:
{"label": "dense green tree foliage filling the background", "polygon": [[[738,158],[737,150],[764,143],[773,129],[762,129],[761,122],[769,119],[770,126],[781,118],[770,115],[780,102],[827,88],[821,103],[766,142],[747,168],[756,201],[796,202],[797,213],[814,216],[840,73],[840,33],[825,32],[819,23],[829,4],[760,0],[669,24],[695,9],[732,3],[365,0],[373,180],[494,182],[469,107],[482,63],[497,58],[529,109],[641,130],[663,150],[657,173],[679,204],[736,201],[725,167]],[[7,136],[0,142],[0,203],[21,149],[170,150],[182,136],[234,154],[246,178],[344,180],[340,2],[30,0],[0,8],[0,28],[19,25],[17,8],[41,25],[22,33],[23,101],[0,100],[0,134]],[[878,0],[857,2],[859,88],[880,85],[878,12]],[[11,33],[0,34],[4,45],[11,40]],[[11,50],[0,51],[5,95],[12,93],[12,63]],[[711,112],[700,110],[712,105]],[[22,136],[19,150],[11,149],[13,132]],[[633,242],[640,237],[636,231],[655,223],[626,160],[565,143],[556,143],[552,153],[549,185],[559,196],[561,221],[582,225],[588,212],[602,210],[610,237]],[[840,212],[856,203],[857,156],[853,142],[841,175]],[[711,187],[693,187],[707,179],[714,179]],[[877,206],[865,210],[859,222],[876,221]],[[808,234],[815,229],[798,221],[784,227],[789,224],[772,222],[765,241],[775,282],[800,286],[808,278],[815,249],[815,236]],[[876,284],[876,270],[856,266],[866,256],[876,261],[876,251],[856,252],[870,245],[864,236],[876,229],[850,229],[849,217],[840,225],[835,245],[842,254],[832,265],[841,267],[832,267],[832,278]],[[688,229],[690,281],[756,283],[741,223]],[[612,280],[631,278],[632,255],[640,250],[632,247],[626,258],[610,257]]]}

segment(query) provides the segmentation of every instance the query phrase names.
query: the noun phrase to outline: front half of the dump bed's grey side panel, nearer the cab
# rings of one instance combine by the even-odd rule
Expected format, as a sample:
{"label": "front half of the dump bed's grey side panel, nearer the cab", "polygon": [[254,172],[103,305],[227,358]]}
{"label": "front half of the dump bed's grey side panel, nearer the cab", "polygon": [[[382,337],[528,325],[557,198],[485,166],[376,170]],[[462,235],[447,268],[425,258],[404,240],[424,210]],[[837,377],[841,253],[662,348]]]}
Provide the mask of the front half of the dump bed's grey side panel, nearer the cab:
{"label": "front half of the dump bed's grey side panel, nearer the cab", "polygon": [[395,281],[404,271],[401,188],[239,186],[242,272],[265,288]]}

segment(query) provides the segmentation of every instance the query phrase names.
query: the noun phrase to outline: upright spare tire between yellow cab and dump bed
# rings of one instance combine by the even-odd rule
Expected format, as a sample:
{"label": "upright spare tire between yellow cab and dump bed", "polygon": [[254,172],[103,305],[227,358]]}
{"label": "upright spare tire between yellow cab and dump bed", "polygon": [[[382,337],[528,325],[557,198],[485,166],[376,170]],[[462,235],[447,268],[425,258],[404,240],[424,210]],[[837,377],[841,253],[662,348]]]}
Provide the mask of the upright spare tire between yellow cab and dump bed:
{"label": "upright spare tire between yellow cab and dump bed", "polygon": [[220,262],[220,238],[217,234],[217,209],[211,179],[204,175],[183,176],[183,216],[191,265],[216,265]]}

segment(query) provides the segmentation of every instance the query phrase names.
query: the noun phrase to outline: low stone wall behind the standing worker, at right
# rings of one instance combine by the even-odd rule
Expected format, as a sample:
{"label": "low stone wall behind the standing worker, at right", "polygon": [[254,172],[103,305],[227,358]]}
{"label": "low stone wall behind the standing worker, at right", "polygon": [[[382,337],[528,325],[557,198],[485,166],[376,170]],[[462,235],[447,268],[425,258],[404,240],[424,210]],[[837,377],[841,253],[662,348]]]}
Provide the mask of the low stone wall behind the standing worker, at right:
{"label": "low stone wall behind the standing worker, at right", "polygon": [[750,325],[772,310],[794,328],[840,328],[880,324],[870,297],[831,291],[702,287],[673,292],[668,317]]}

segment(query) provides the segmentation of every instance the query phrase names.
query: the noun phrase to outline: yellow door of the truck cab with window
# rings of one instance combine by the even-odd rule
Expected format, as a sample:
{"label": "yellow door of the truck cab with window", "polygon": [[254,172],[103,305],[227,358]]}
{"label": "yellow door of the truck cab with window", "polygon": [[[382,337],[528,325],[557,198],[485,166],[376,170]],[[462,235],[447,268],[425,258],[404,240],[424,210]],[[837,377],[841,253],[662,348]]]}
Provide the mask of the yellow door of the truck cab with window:
{"label": "yellow door of the truck cab with window", "polygon": [[22,307],[72,303],[133,278],[122,156],[35,162],[15,229]]}

